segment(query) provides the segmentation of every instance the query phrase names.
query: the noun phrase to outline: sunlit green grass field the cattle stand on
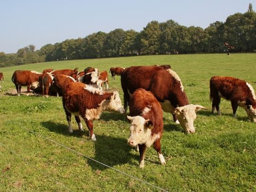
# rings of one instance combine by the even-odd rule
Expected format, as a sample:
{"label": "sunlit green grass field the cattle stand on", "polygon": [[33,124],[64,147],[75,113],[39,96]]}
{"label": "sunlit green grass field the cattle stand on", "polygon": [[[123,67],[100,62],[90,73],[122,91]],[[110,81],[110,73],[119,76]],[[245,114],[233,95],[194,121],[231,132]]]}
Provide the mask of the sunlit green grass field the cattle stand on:
{"label": "sunlit green grass field the cattle stand on", "polygon": [[[0,191],[159,191],[87,157],[107,164],[167,191],[256,191],[256,124],[242,108],[232,117],[231,104],[221,101],[222,115],[198,111],[196,132],[184,134],[164,113],[162,152],[146,150],[145,168],[139,169],[139,153],[127,145],[129,123],[125,115],[103,113],[94,121],[97,141],[78,131],[68,133],[61,98],[13,95],[14,70],[67,69],[170,64],[180,76],[190,103],[211,109],[209,80],[233,76],[256,89],[256,54],[189,54],[147,57],[56,61],[1,68],[5,82],[0,92]],[[123,92],[120,77],[110,79],[110,89]],[[30,130],[30,131],[29,131]],[[31,132],[33,131],[33,132]],[[58,145],[77,151],[72,151]]]}

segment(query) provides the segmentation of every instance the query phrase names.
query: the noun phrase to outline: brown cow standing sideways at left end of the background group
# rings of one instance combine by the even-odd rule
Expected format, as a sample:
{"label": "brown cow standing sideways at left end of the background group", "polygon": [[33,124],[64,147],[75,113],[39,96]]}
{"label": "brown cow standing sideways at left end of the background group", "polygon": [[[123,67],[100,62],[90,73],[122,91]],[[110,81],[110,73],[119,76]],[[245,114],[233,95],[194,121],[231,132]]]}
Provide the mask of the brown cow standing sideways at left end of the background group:
{"label": "brown cow standing sideways at left end of the background group", "polygon": [[39,76],[42,73],[30,70],[15,70],[12,75],[12,82],[15,84],[18,95],[21,94],[21,86],[27,86],[27,95],[30,89],[35,90],[39,87]]}

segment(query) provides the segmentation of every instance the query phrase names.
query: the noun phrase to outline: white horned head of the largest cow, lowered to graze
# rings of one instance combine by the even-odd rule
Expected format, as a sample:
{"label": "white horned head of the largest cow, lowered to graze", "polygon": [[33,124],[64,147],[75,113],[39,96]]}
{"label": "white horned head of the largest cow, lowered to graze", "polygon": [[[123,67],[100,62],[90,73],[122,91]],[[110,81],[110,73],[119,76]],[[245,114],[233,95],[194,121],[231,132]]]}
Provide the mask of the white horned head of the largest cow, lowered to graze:
{"label": "white horned head of the largest cow, lowered to graze", "polygon": [[200,109],[207,109],[201,105],[189,104],[182,107],[175,108],[180,125],[183,127],[185,133],[194,133],[194,121],[196,119],[196,111]]}

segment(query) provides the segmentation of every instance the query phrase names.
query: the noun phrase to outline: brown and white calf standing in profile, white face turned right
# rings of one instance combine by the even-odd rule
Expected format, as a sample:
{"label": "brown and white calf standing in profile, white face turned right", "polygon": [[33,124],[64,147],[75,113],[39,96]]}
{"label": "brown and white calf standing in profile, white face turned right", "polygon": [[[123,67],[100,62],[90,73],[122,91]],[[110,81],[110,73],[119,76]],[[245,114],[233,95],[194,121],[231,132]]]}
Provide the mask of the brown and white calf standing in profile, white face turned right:
{"label": "brown and white calf standing in profile, white face turned right", "polygon": [[99,119],[102,111],[115,110],[124,113],[124,108],[117,91],[105,92],[92,85],[85,85],[80,82],[67,84],[63,90],[62,102],[67,116],[68,131],[70,133],[73,132],[71,114],[75,115],[79,130],[83,131],[79,118],[79,116],[82,116],[93,141],[96,141],[96,137],[93,133],[92,121]]}

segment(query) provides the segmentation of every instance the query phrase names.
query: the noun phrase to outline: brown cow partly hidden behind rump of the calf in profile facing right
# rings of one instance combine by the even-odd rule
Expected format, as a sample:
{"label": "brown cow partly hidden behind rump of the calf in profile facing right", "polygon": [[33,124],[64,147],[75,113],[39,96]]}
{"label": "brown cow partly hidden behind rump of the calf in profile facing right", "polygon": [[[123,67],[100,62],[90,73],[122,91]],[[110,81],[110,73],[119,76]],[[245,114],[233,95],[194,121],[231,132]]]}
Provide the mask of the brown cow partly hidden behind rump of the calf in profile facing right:
{"label": "brown cow partly hidden behind rump of the calf in profile facing right", "polygon": [[63,95],[62,92],[65,89],[66,85],[70,82],[76,82],[76,80],[73,77],[70,77],[68,75],[62,75],[59,74],[53,78],[53,84],[51,86],[51,92],[54,92],[57,94],[57,97],[59,95]]}

